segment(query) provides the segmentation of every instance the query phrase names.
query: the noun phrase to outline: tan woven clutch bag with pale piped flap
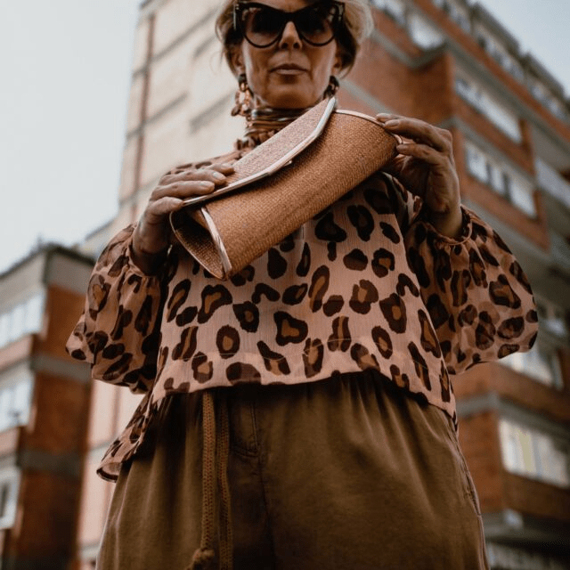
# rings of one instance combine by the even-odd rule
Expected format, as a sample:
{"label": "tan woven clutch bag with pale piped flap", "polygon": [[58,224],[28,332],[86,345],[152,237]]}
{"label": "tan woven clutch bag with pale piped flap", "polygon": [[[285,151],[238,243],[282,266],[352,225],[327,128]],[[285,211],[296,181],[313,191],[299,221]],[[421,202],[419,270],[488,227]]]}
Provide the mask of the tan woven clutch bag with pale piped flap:
{"label": "tan woven clutch bag with pale piped flap", "polygon": [[387,164],[396,140],[374,118],[325,100],[257,146],[228,183],[170,216],[176,238],[218,279],[239,273]]}

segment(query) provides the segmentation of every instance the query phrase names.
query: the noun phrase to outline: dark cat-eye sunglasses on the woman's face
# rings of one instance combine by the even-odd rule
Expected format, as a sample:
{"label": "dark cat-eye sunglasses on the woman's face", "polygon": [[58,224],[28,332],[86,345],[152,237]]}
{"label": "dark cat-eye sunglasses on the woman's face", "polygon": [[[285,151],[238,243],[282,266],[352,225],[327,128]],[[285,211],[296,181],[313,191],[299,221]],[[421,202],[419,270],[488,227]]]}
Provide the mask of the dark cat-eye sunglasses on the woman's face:
{"label": "dark cat-eye sunglasses on the woman's face", "polygon": [[245,4],[240,14],[240,28],[250,44],[265,47],[279,40],[289,20],[295,23],[297,33],[304,40],[325,45],[335,35],[338,9],[334,4],[317,3],[291,14],[269,6]]}

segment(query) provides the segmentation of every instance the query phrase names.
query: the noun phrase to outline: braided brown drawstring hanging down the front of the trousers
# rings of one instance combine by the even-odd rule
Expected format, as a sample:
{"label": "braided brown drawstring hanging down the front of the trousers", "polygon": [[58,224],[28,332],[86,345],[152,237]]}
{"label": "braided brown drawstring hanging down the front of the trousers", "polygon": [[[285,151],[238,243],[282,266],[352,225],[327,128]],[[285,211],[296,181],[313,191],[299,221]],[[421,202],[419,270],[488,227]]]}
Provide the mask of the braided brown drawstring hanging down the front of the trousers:
{"label": "braided brown drawstring hanging down the front of the trousers", "polygon": [[208,570],[216,561],[216,486],[219,494],[219,568],[232,570],[233,537],[228,459],[230,425],[228,406],[219,398],[220,431],[216,436],[214,393],[202,395],[202,534],[199,549],[194,552],[187,570]]}

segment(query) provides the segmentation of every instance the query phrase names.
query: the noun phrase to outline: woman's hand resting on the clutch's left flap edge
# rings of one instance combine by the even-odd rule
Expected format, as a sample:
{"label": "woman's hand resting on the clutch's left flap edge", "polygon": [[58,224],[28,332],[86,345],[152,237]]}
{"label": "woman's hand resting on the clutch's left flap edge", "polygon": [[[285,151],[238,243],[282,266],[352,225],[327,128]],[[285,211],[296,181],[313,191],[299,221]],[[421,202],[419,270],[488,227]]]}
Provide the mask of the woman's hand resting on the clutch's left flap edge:
{"label": "woman's hand resting on the clutch's left flap edge", "polygon": [[144,273],[154,273],[170,243],[170,213],[182,208],[184,199],[222,186],[232,172],[232,165],[214,164],[162,176],[133,233],[134,264]]}

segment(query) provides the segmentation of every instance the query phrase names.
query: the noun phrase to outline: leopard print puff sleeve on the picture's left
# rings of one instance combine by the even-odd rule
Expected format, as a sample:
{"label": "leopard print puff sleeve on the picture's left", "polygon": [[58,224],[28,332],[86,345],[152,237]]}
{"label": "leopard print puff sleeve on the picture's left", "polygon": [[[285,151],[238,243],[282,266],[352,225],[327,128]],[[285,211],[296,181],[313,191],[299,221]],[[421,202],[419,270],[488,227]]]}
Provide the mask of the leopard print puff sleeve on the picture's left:
{"label": "leopard print puff sleeve on the picture's left", "polygon": [[134,393],[149,391],[156,375],[160,276],[134,265],[134,226],[103,250],[89,281],[84,312],[67,342],[68,353],[92,365],[92,377]]}

